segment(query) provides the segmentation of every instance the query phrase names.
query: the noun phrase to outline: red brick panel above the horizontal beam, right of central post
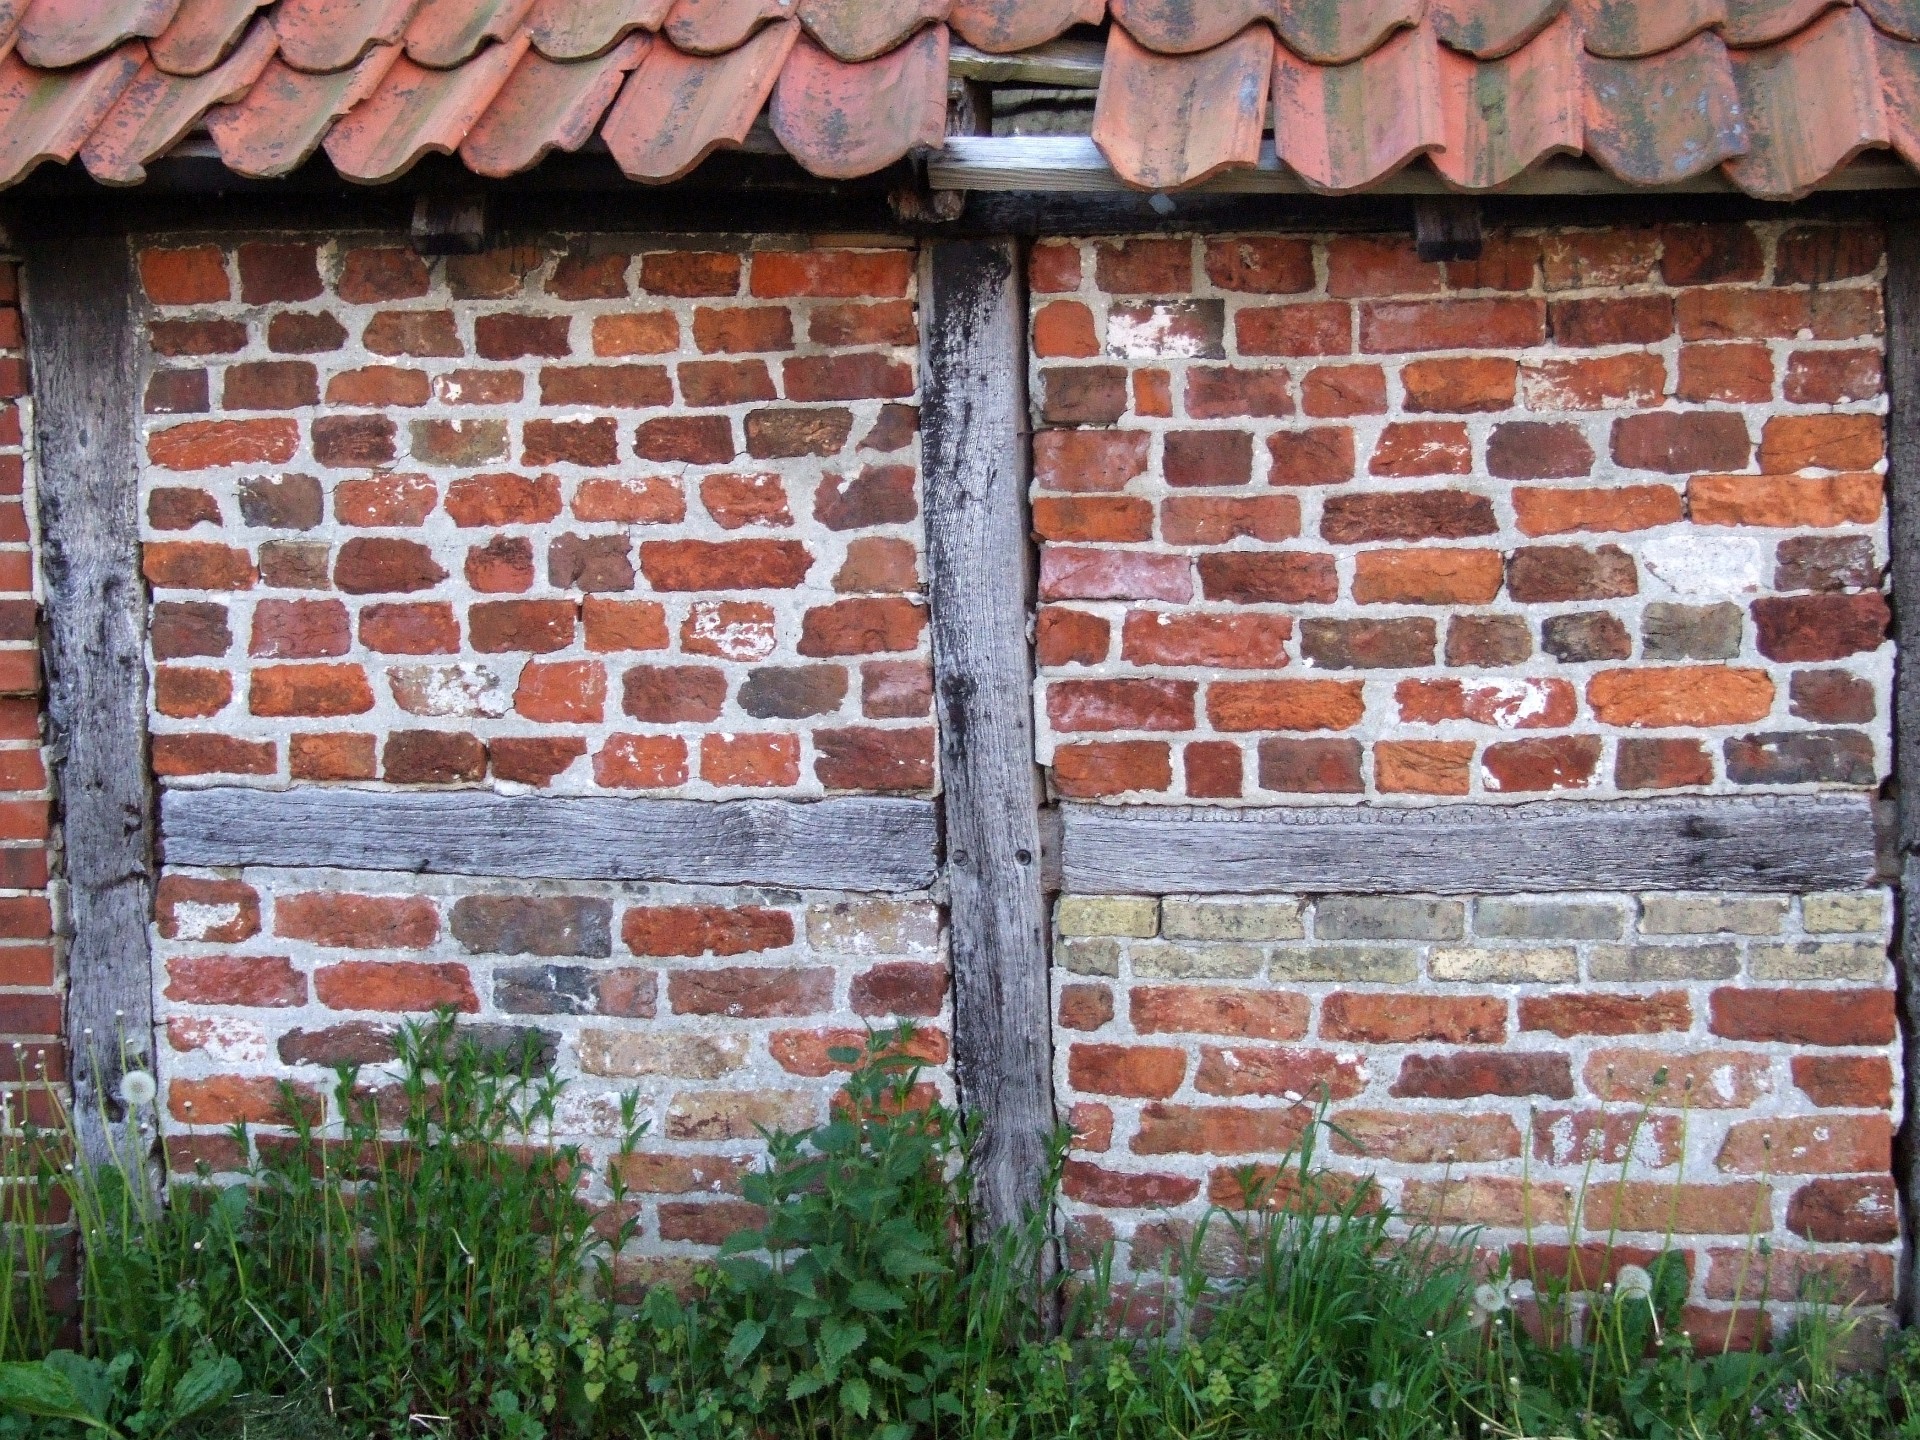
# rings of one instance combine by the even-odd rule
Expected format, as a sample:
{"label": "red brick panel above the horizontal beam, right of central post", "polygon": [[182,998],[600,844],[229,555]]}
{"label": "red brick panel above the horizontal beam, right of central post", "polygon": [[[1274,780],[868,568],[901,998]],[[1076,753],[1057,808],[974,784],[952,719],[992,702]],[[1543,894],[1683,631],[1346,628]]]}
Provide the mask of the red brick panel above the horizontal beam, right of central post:
{"label": "red brick panel above the horizontal beam, right of central post", "polygon": [[1043,244],[1066,797],[1872,785],[1880,234]]}

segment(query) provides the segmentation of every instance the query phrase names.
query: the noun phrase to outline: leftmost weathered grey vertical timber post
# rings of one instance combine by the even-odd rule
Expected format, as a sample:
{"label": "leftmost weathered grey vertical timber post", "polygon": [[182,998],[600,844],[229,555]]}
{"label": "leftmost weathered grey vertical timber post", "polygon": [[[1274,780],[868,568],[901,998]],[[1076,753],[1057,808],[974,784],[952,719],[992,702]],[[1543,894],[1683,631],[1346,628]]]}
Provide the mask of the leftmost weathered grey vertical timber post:
{"label": "leftmost weathered grey vertical timber post", "polygon": [[65,845],[67,1044],[83,1150],[121,1052],[154,1052],[154,804],[140,580],[140,346],[125,238],[29,244],[23,267],[46,582],[48,751]]}

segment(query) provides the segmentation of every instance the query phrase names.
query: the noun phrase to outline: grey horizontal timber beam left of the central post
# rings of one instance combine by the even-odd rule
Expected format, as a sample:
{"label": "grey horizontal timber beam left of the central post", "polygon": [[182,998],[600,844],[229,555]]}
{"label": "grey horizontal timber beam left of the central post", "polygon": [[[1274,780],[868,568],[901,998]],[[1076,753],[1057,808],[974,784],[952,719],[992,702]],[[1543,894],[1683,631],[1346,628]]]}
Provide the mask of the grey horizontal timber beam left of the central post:
{"label": "grey horizontal timber beam left of the central post", "polygon": [[931,801],[657,801],[618,795],[169,789],[167,864],[401,870],[920,891],[939,872]]}

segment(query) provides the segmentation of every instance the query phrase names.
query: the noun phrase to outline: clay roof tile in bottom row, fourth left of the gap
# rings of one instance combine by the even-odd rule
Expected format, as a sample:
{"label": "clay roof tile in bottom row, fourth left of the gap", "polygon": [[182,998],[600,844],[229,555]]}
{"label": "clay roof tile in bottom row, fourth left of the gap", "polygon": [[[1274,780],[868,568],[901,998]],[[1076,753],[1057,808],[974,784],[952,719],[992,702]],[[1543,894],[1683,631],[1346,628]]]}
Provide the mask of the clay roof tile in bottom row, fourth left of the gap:
{"label": "clay roof tile in bottom row, fourth left of the gap", "polygon": [[453,69],[426,69],[401,56],[380,88],[326,132],[328,159],[349,180],[378,184],[405,175],[430,150],[451,156],[526,48],[520,31]]}

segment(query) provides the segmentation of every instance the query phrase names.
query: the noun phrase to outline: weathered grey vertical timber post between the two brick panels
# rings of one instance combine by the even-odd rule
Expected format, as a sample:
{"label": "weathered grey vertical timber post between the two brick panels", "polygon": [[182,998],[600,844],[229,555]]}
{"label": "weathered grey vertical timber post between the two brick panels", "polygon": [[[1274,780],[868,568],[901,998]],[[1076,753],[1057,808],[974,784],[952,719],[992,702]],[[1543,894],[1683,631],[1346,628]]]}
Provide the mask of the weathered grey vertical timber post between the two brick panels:
{"label": "weathered grey vertical timber post between the two brick panels", "polygon": [[1033,764],[1027,311],[1014,240],[922,261],[927,572],[952,914],[954,1068],[981,1119],[981,1219],[1041,1200],[1054,1127]]}

